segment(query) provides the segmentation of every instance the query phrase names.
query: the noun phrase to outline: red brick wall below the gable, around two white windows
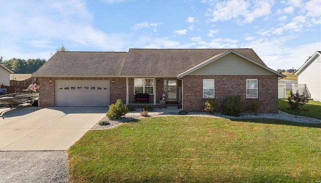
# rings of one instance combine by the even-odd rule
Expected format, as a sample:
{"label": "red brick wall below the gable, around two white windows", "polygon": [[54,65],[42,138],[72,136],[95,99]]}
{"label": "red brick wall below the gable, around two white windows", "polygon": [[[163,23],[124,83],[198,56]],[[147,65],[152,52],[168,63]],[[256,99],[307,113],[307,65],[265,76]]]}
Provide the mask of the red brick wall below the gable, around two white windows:
{"label": "red brick wall below the gable, around two white windows", "polygon": [[[203,111],[203,79],[215,79],[215,100],[221,112],[223,98],[241,95],[245,109],[250,102],[258,102],[259,112],[278,113],[277,75],[186,75],[184,76],[184,110]],[[246,79],[258,79],[258,98],[246,98]]]}

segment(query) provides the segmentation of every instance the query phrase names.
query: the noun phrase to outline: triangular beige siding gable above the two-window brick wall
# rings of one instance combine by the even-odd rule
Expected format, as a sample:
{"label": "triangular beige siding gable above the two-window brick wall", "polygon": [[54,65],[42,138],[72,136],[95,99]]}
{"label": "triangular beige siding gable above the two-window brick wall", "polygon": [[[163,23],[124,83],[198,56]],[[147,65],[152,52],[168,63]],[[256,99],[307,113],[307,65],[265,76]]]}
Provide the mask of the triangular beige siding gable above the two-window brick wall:
{"label": "triangular beige siding gable above the two-window brick wall", "polygon": [[274,73],[234,53],[229,53],[189,75],[274,75]]}

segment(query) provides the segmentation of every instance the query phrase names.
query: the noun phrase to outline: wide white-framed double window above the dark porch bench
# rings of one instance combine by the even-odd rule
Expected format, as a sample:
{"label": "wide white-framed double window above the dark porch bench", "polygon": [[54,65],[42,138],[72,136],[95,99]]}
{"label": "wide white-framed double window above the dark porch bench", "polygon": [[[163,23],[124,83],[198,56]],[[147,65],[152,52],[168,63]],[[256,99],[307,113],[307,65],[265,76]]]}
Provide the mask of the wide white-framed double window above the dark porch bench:
{"label": "wide white-framed double window above the dark porch bench", "polygon": [[134,78],[134,94],[148,93],[153,94],[154,79],[153,78]]}

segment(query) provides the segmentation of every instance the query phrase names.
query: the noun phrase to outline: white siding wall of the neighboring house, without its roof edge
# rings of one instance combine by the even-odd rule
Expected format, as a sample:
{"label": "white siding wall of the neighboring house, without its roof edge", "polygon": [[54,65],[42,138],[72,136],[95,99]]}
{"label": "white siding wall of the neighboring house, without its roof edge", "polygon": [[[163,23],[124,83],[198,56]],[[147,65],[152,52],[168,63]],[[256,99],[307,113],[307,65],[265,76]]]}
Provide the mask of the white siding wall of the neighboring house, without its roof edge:
{"label": "white siding wall of the neighboring house, without its roof edge", "polygon": [[318,57],[320,56],[315,57],[305,66],[305,69],[297,76],[297,83],[306,84],[310,97],[321,101],[321,62],[317,61]]}

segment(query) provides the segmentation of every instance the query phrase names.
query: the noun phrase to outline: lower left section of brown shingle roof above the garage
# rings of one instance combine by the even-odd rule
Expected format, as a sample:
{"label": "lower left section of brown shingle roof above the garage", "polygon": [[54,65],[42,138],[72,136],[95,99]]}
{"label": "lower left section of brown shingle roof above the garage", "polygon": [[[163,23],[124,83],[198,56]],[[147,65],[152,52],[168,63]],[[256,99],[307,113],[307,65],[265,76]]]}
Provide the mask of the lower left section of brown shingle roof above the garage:
{"label": "lower left section of brown shingle roof above the garage", "polygon": [[118,76],[127,52],[58,51],[33,76]]}

